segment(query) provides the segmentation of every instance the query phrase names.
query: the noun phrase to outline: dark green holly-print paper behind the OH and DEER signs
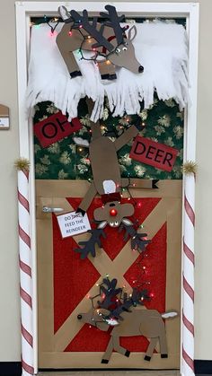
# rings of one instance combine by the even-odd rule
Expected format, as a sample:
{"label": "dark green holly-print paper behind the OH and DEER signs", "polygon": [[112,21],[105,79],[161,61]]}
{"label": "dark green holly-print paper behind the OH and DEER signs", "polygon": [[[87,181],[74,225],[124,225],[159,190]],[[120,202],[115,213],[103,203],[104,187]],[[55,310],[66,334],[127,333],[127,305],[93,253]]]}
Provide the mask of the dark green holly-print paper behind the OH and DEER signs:
{"label": "dark green holly-print paper behind the OH and DEER signs", "polygon": [[[48,118],[58,109],[53,103],[42,102],[35,106],[34,124]],[[78,109],[82,123],[80,131],[47,148],[42,148],[34,137],[35,178],[36,179],[93,179],[88,155],[88,148],[75,145],[73,136],[91,139],[89,116],[85,100],[80,101]],[[183,159],[183,112],[172,99],[158,101],[150,109],[140,109],[138,117],[146,127],[139,133],[160,144],[167,144],[178,150],[178,156],[171,172],[155,169],[144,163],[129,158],[133,140],[122,147],[118,153],[119,167],[122,177],[141,179],[181,179]],[[105,101],[103,118],[100,121],[102,136],[110,136],[112,140],[119,137],[133,122],[137,115],[125,115],[113,118]]]}

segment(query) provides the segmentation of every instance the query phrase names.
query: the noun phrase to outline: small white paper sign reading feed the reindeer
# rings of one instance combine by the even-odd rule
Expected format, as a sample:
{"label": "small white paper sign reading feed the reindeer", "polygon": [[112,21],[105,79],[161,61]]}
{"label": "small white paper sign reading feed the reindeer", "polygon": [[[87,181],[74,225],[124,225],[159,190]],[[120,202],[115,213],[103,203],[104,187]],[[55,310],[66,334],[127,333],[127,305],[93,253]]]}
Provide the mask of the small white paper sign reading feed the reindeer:
{"label": "small white paper sign reading feed the reindeer", "polygon": [[83,216],[81,213],[70,212],[57,215],[57,222],[63,239],[91,230],[87,214]]}

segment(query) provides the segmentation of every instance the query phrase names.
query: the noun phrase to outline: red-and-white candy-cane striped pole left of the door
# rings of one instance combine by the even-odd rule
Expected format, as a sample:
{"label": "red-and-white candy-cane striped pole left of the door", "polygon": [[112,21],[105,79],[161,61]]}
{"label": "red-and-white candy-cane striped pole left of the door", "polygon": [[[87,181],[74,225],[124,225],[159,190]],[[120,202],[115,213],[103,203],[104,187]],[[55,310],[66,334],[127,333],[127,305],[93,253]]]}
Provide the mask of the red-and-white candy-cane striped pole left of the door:
{"label": "red-and-white candy-cane striped pole left of the door", "polygon": [[34,374],[29,172],[18,171],[19,265],[22,317],[22,375]]}

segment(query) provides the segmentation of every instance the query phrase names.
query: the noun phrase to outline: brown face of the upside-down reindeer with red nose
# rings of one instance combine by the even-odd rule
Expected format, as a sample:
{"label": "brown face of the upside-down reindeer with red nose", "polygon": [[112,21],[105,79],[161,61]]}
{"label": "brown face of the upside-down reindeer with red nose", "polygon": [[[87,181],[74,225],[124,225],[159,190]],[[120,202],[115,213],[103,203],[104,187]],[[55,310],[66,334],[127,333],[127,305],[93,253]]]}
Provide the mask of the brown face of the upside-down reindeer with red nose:
{"label": "brown face of the upside-down reindeer with red nose", "polygon": [[119,227],[123,218],[134,214],[132,204],[120,204],[119,201],[106,203],[94,210],[94,219],[108,223],[110,227]]}

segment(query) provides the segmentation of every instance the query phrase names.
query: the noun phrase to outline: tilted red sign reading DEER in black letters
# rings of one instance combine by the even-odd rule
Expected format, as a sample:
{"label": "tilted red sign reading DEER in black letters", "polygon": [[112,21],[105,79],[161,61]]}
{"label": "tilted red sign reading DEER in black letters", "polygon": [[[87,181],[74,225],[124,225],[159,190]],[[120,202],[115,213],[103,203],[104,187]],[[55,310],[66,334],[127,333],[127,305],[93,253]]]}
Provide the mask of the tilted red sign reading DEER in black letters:
{"label": "tilted red sign reading DEER in black letters", "polygon": [[154,166],[164,171],[172,171],[174,162],[178,154],[177,149],[173,149],[166,144],[155,143],[148,138],[137,136],[131,152],[130,158]]}

